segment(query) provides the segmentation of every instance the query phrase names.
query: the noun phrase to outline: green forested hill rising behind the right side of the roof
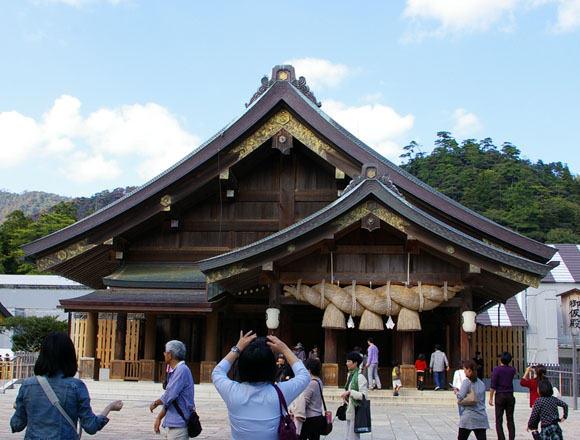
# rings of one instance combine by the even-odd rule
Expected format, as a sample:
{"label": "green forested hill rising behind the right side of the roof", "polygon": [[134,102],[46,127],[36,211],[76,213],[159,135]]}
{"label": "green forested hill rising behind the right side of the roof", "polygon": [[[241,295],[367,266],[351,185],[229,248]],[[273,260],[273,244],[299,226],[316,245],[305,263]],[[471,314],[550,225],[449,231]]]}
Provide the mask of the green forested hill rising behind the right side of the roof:
{"label": "green forested hill rising behind the right side of the roof", "polygon": [[431,154],[405,147],[402,168],[462,205],[546,243],[580,243],[580,178],[562,162],[532,163],[509,142],[458,143],[437,133]]}

